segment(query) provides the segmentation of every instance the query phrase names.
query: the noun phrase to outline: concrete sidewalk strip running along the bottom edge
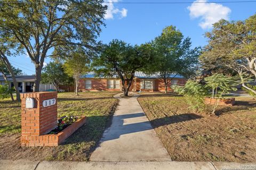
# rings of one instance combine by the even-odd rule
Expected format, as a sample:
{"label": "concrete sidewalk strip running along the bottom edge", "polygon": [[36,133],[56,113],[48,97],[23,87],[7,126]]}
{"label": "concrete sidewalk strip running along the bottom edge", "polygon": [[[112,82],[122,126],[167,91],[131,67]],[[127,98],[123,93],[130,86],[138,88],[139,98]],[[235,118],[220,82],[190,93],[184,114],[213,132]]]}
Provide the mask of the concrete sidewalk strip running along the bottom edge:
{"label": "concrete sidewalk strip running along the bottom edge", "polygon": [[30,162],[0,160],[0,170],[255,170],[256,163],[221,162]]}

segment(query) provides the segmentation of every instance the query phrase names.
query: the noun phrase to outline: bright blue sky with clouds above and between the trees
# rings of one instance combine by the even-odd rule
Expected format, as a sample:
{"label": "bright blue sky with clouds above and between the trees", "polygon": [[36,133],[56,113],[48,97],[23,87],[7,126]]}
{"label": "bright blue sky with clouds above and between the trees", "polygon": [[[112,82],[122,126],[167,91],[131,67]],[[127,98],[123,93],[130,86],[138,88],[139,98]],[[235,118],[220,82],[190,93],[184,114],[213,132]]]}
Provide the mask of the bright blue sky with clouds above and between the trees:
{"label": "bright blue sky with clouds above and between the trees", "polygon": [[[216,3],[207,0],[106,0],[109,2],[105,15],[106,27],[98,40],[109,43],[113,39],[124,40],[132,45],[143,44],[153,40],[161,31],[175,25],[185,37],[190,37],[192,46],[205,46],[206,31],[211,31],[212,24],[220,19],[245,20],[256,13],[254,3]],[[241,0],[245,1],[245,0]],[[113,3],[114,2],[114,3]],[[115,2],[191,2],[190,4],[118,4]],[[26,55],[10,58],[14,67],[19,67],[27,75],[35,74],[35,66]],[[50,62],[46,58],[45,65]]]}

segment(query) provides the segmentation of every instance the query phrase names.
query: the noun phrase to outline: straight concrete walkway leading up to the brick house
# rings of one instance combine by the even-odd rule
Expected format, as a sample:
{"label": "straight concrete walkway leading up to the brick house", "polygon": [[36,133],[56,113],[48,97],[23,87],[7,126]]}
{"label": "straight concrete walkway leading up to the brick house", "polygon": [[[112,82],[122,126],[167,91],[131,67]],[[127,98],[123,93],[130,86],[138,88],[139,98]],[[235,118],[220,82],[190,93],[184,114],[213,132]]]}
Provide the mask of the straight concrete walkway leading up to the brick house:
{"label": "straight concrete walkway leading up to the brick house", "polygon": [[121,98],[111,126],[105,130],[92,161],[170,161],[137,97]]}

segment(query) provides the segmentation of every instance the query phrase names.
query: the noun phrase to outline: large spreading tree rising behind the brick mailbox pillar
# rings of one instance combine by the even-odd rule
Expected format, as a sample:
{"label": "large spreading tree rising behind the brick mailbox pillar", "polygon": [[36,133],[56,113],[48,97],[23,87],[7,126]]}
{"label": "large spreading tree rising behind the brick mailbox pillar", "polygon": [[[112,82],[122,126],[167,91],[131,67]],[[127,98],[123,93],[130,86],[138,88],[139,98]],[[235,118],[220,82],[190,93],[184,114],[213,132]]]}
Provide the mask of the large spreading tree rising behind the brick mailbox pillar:
{"label": "large spreading tree rising behind the brick mailbox pillar", "polygon": [[[93,48],[107,6],[103,0],[0,1],[0,30],[20,43],[35,64],[33,91],[39,91],[49,49],[56,46]],[[15,87],[16,88],[16,87]]]}

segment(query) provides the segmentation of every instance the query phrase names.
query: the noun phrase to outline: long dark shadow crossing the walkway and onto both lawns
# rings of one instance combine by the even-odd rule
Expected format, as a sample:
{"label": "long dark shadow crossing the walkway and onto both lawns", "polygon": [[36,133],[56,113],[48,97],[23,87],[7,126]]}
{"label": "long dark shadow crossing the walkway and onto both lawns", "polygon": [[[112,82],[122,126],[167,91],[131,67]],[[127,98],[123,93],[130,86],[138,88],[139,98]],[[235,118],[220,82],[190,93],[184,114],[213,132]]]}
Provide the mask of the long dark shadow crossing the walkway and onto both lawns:
{"label": "long dark shadow crossing the walkway and onto both lawns", "polygon": [[[137,133],[147,130],[153,130],[159,126],[170,125],[173,123],[185,122],[201,118],[202,116],[196,114],[181,114],[173,115],[170,117],[157,118],[152,121],[144,121],[139,123],[126,124],[125,122],[129,118],[136,118],[145,116],[144,113],[134,113],[125,115],[113,116],[112,124],[109,128],[106,128],[106,118],[108,116],[90,116],[87,117],[86,124],[78,129],[73,135],[71,135],[63,145],[81,142],[94,142],[93,151],[100,142],[114,140],[120,138],[121,135]],[[109,118],[108,118],[109,119]],[[151,126],[152,124],[152,126]],[[105,132],[104,132],[105,131]],[[103,134],[103,135],[102,135]],[[101,140],[100,140],[101,139]]]}

